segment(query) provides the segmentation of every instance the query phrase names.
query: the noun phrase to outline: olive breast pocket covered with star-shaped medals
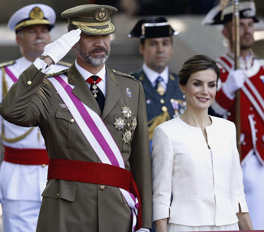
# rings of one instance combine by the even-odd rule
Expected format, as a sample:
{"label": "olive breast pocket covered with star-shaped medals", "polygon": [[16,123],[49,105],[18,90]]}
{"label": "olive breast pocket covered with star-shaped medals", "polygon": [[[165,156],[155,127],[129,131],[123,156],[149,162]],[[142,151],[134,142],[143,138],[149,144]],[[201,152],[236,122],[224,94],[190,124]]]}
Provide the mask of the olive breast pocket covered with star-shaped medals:
{"label": "olive breast pocket covered with star-shaped medals", "polygon": [[136,115],[131,115],[126,119],[124,115],[114,115],[114,140],[122,153],[131,152],[131,142],[133,139],[134,131],[132,130],[132,119]]}

